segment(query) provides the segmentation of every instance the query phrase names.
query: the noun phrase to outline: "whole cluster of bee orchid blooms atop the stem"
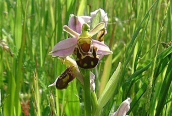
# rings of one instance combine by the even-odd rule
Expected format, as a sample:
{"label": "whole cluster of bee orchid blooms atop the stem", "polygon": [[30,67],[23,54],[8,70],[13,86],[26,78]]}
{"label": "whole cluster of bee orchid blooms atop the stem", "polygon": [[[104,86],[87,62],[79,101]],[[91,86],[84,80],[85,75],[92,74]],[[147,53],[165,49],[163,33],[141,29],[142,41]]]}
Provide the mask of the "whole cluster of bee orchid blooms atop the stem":
{"label": "whole cluster of bee orchid blooms atop the stem", "polygon": [[[91,30],[89,24],[99,11],[102,21]],[[50,52],[53,57],[59,57],[68,68],[49,87],[65,89],[75,77],[84,85],[83,75],[78,66],[84,69],[94,68],[104,55],[112,54],[109,47],[102,41],[106,34],[107,21],[107,14],[102,9],[92,12],[91,17],[71,15],[69,26],[63,26],[63,30],[71,37],[57,43]],[[97,40],[94,40],[93,36],[96,34]],[[72,54],[77,56],[76,61],[69,57]],[[93,73],[90,74],[90,79],[91,90],[95,91]]]}

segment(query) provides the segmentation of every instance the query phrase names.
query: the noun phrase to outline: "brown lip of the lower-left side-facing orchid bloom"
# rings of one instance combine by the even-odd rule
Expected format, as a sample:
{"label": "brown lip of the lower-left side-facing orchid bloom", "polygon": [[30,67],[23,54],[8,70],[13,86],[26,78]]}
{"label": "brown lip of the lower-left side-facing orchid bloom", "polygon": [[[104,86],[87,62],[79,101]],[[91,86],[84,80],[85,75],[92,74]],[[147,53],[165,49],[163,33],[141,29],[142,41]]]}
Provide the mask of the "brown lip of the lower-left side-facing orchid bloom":
{"label": "brown lip of the lower-left side-facing orchid bloom", "polygon": [[63,74],[61,74],[53,84],[49,85],[49,87],[56,86],[57,89],[67,88],[68,84],[75,78],[72,71],[73,68],[73,66],[67,68],[65,72],[63,72]]}

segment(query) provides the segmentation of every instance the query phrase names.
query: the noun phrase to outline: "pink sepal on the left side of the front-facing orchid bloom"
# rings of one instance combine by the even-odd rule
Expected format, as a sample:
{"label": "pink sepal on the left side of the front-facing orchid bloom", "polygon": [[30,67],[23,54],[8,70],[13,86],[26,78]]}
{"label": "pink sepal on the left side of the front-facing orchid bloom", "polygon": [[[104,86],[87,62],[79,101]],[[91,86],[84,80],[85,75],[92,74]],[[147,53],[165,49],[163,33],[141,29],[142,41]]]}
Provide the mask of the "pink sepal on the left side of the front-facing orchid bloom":
{"label": "pink sepal on the left side of the front-facing orchid bloom", "polygon": [[53,57],[66,57],[73,53],[75,47],[77,45],[76,38],[68,38],[65,40],[60,41],[56,44],[51,51],[51,55]]}

